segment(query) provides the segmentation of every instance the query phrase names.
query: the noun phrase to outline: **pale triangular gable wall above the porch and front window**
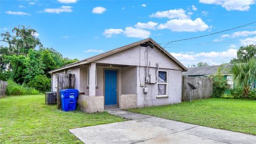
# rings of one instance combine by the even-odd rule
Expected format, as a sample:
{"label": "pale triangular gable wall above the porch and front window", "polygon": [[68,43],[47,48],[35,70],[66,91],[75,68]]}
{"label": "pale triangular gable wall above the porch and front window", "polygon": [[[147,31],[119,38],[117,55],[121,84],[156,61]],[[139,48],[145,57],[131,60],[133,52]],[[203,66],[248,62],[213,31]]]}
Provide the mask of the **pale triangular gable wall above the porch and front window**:
{"label": "pale triangular gable wall above the porch and front window", "polygon": [[[145,66],[145,58],[147,56],[145,49],[146,47],[134,46],[125,51],[111,54],[108,57],[96,60],[95,62],[113,65]],[[176,62],[171,60],[171,58],[165,55],[162,51],[159,51],[159,49],[149,51],[148,60],[151,63],[151,67],[156,67],[156,63],[159,63],[159,68],[182,70]]]}

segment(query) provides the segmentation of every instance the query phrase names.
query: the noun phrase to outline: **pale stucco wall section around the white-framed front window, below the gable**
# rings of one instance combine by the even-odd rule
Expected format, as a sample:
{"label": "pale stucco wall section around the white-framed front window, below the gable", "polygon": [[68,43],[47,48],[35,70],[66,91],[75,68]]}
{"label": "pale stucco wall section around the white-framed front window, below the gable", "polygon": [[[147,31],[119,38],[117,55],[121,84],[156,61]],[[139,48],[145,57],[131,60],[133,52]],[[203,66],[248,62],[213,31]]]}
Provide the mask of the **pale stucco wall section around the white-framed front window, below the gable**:
{"label": "pale stucco wall section around the white-framed front window, below the gable", "polygon": [[[148,88],[148,93],[143,93],[143,87],[140,87],[140,79],[143,84],[145,84],[145,69],[143,67],[137,67],[138,79],[137,79],[137,105],[138,107],[146,106],[159,106],[168,105],[172,103],[181,102],[182,93],[182,72],[181,70],[171,70],[171,69],[159,69],[167,70],[167,98],[157,98],[157,83],[156,84],[146,84]],[[140,73],[140,79],[139,79]],[[155,68],[150,68],[150,75],[155,76]]]}

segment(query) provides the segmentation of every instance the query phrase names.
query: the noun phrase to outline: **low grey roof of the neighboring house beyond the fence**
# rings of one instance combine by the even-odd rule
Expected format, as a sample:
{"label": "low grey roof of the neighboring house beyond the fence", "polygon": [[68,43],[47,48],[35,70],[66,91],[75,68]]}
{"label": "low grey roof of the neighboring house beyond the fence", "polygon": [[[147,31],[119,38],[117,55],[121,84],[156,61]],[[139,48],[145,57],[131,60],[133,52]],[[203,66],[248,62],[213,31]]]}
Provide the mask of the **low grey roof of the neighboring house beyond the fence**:
{"label": "low grey roof of the neighboring house beyond the fence", "polygon": [[[205,67],[192,67],[188,68],[188,71],[182,73],[183,76],[206,76],[206,75],[215,75],[217,73],[219,66],[205,66]],[[222,72],[224,75],[230,74],[230,69],[233,64],[224,65]]]}

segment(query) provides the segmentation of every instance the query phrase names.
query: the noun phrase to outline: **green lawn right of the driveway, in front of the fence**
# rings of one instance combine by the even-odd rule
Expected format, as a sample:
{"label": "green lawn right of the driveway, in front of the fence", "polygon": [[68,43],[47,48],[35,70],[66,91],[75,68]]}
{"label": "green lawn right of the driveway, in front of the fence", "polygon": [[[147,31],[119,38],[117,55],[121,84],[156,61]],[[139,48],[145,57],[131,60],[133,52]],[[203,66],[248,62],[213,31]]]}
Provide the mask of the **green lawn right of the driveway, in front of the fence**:
{"label": "green lawn right of the driveway, in front of the fence", "polygon": [[256,101],[251,100],[211,98],[129,111],[256,135]]}

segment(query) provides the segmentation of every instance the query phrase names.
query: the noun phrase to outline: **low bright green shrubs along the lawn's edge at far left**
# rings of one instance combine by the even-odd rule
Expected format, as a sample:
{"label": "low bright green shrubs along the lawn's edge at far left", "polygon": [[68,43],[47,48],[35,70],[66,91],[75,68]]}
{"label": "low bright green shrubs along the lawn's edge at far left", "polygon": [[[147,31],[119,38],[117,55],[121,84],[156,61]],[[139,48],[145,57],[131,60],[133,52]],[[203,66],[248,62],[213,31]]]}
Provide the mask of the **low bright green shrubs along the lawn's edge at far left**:
{"label": "low bright green shrubs along the lawn's edge at far left", "polygon": [[11,79],[8,80],[8,85],[6,87],[6,95],[24,95],[24,94],[39,94],[34,88],[20,85],[13,82]]}

